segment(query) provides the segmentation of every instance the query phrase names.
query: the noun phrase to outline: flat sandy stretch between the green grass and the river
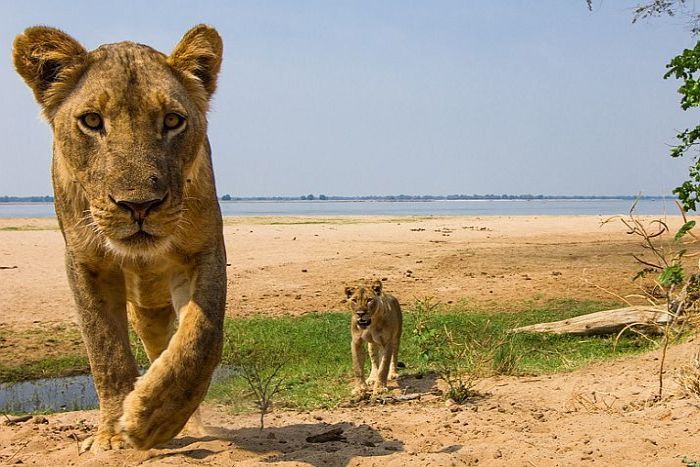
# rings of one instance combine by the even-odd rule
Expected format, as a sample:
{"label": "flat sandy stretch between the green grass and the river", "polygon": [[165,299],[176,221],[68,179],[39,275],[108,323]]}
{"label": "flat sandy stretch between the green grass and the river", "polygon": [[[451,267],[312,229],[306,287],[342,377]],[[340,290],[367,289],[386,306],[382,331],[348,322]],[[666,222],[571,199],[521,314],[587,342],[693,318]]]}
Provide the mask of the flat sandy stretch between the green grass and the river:
{"label": "flat sandy stretch between the green grass and the river", "polygon": [[[343,289],[380,278],[426,296],[516,310],[549,298],[638,292],[638,241],[600,217],[228,218],[230,316],[344,309]],[[677,221],[677,220],[674,220]],[[677,222],[676,222],[677,223]],[[11,230],[53,229],[53,230]],[[0,219],[5,326],[74,321],[55,221]]]}

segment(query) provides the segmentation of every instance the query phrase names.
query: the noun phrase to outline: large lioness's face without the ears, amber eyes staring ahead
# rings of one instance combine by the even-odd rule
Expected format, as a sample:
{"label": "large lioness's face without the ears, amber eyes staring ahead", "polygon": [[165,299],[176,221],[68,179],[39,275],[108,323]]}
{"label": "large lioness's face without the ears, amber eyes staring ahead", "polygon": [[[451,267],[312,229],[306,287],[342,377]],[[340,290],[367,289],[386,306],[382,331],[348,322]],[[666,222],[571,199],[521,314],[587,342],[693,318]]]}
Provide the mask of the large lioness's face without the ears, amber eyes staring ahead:
{"label": "large lioness's face without the ears, amber eyes staring ahead", "polygon": [[206,120],[159,52],[122,43],[92,55],[53,118],[57,164],[107,246],[148,251],[177,228]]}

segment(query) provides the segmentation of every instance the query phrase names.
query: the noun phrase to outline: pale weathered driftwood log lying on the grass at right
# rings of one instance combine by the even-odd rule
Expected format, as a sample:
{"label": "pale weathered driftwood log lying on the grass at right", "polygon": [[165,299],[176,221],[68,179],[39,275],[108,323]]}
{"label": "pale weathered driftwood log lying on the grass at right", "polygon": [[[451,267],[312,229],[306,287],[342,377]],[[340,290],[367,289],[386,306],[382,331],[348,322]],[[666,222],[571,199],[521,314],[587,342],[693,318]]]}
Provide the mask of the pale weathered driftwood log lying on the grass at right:
{"label": "pale weathered driftwood log lying on the grass at right", "polygon": [[613,334],[629,325],[639,325],[651,331],[665,324],[671,316],[664,306],[629,306],[614,310],[598,311],[552,323],[539,323],[513,329],[513,332],[541,332],[550,334],[571,334],[574,336],[595,336]]}

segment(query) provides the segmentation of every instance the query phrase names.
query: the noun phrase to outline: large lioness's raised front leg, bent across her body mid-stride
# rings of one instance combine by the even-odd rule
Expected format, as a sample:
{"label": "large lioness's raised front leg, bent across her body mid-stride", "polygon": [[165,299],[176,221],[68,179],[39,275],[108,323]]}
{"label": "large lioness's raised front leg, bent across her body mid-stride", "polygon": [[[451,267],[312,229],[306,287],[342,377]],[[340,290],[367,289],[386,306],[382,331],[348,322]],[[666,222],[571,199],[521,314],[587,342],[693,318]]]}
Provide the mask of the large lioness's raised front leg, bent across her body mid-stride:
{"label": "large lioness's raised front leg, bent across her body mid-stride", "polygon": [[177,331],[124,401],[121,427],[139,449],[168,441],[182,430],[221,358],[226,254],[223,244],[219,247],[200,255],[188,280],[174,286]]}

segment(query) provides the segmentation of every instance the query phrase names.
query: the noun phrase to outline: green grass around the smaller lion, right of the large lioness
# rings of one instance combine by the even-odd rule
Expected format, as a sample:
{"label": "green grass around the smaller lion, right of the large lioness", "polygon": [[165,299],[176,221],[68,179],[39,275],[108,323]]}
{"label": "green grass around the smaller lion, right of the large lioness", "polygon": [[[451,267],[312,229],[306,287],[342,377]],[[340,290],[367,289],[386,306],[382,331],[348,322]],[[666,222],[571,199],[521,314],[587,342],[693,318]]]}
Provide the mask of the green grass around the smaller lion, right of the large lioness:
{"label": "green grass around the smaller lion, right of the large lioness", "polygon": [[[511,358],[508,373],[564,372],[593,361],[650,350],[654,343],[634,334],[623,337],[614,347],[614,337],[513,335],[508,331],[612,306],[614,304],[557,300],[518,313],[470,311],[464,305],[441,306],[431,314],[431,325],[446,326],[455,336],[477,346],[483,342],[505,343],[496,353],[499,362]],[[337,406],[350,397],[351,390],[349,318],[348,313],[338,312],[227,320],[223,364],[235,365],[235,349],[254,350],[261,357],[283,353],[287,358],[286,384],[276,398],[278,405],[295,409]],[[408,375],[426,374],[431,369],[421,353],[420,340],[413,332],[416,319],[414,309],[404,310],[399,360],[406,364],[403,374]],[[252,408],[250,390],[242,378],[232,377],[214,384],[209,397],[230,405],[234,411]]]}

